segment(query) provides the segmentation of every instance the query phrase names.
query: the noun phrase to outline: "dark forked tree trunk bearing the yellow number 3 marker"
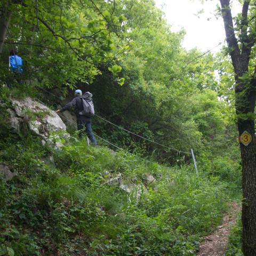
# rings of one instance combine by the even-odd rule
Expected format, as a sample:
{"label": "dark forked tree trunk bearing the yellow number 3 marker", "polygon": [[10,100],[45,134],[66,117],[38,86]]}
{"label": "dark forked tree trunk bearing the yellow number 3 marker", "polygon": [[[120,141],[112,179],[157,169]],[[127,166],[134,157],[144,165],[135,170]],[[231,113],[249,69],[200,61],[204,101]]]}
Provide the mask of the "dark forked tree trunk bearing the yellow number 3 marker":
{"label": "dark forked tree trunk bearing the yellow number 3 marker", "polygon": [[[245,146],[240,143],[243,166],[243,252],[245,256],[256,256],[256,141],[254,109],[256,99],[256,69],[248,76],[251,49],[255,35],[249,32],[247,13],[251,0],[244,0],[240,27],[240,47],[235,36],[230,0],[220,0],[229,54],[235,71],[236,114],[239,136],[245,131],[251,134],[252,141]],[[251,34],[249,34],[251,33]],[[244,76],[244,78],[242,78]]]}

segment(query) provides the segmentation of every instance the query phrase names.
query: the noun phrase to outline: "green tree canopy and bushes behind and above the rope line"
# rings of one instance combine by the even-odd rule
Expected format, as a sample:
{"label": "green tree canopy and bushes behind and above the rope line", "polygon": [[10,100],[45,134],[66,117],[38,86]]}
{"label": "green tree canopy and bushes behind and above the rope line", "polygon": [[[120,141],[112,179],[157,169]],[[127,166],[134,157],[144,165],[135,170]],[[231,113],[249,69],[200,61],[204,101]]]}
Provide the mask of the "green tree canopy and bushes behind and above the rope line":
{"label": "green tree canopy and bushes behind and above the rope line", "polygon": [[[220,61],[183,49],[184,31],[172,33],[154,1],[31,0],[13,2],[6,10],[15,15],[1,55],[2,81],[15,84],[7,70],[7,55],[15,47],[25,62],[22,93],[41,94],[52,105],[79,87],[93,93],[97,114],[171,148],[218,155],[220,145],[232,146],[222,143],[234,141],[235,128],[231,105],[217,98],[224,87],[214,75]],[[144,145],[95,123],[98,134],[118,146]],[[164,161],[173,162],[176,155],[148,142],[144,146]]]}

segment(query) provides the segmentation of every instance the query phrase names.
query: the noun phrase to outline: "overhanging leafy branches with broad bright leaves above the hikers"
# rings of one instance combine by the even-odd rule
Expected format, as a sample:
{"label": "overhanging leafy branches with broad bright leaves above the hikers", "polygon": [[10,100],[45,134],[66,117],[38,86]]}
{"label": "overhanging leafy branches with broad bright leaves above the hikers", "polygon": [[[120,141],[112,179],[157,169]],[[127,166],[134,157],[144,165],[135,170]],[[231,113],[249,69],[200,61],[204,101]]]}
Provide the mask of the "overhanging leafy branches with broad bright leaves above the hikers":
{"label": "overhanging leafy branches with broad bright leaves above the hikers", "polygon": [[[77,81],[90,82],[100,73],[95,65],[113,58],[113,33],[124,17],[111,15],[111,4],[99,1],[2,1],[2,12],[11,21],[3,60],[19,49],[25,62],[24,76],[46,88],[73,88]],[[9,51],[8,51],[9,50]],[[2,63],[2,79],[7,77]]]}

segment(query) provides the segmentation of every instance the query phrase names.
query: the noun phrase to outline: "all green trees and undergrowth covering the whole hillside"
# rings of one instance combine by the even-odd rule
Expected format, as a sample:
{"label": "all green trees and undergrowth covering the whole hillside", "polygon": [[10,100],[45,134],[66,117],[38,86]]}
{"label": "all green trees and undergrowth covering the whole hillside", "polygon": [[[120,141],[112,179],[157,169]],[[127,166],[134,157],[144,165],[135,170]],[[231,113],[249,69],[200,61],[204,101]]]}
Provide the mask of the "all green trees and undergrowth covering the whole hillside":
{"label": "all green trees and undergrowth covering the whole hillside", "polygon": [[[0,177],[0,255],[196,255],[241,193],[227,59],[183,49],[185,31],[173,33],[153,0],[4,0],[3,10],[0,162],[18,176]],[[13,48],[25,63],[22,84],[7,65]],[[93,93],[98,115],[170,148],[97,117],[94,132],[125,150],[89,147],[73,134],[56,151],[12,134],[10,98],[57,109],[74,88]],[[199,177],[179,153],[191,148]],[[119,173],[139,199],[107,185]]]}

